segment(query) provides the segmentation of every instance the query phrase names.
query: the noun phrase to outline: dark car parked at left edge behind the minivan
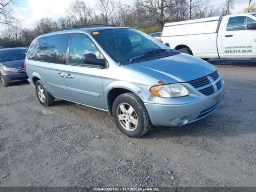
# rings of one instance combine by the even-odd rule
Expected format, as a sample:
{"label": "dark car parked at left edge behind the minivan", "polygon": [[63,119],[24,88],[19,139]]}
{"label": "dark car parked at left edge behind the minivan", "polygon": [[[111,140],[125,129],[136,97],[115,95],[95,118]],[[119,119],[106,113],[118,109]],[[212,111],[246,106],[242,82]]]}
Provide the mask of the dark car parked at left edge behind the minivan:
{"label": "dark car parked at left edge behind the minivan", "polygon": [[5,87],[28,79],[24,68],[27,51],[27,48],[0,50],[0,79]]}

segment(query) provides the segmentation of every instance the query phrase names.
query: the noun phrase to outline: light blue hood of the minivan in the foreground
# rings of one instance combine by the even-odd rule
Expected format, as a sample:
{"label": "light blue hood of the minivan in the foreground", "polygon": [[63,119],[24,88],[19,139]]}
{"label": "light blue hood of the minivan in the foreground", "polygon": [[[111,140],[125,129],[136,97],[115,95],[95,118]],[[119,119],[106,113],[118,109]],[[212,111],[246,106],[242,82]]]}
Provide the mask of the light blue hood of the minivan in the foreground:
{"label": "light blue hood of the minivan in the foreground", "polygon": [[127,66],[153,76],[165,84],[188,82],[216,71],[208,62],[188,54],[177,54]]}

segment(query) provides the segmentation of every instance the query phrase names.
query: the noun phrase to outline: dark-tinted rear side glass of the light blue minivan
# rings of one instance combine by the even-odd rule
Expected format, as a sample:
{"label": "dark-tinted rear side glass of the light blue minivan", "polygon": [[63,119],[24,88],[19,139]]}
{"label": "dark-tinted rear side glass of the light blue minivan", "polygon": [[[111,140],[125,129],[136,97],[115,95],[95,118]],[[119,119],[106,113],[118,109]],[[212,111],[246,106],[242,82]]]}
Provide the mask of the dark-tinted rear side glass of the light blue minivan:
{"label": "dark-tinted rear side glass of the light blue minivan", "polygon": [[51,35],[37,39],[28,51],[28,59],[66,64],[66,51],[70,34]]}

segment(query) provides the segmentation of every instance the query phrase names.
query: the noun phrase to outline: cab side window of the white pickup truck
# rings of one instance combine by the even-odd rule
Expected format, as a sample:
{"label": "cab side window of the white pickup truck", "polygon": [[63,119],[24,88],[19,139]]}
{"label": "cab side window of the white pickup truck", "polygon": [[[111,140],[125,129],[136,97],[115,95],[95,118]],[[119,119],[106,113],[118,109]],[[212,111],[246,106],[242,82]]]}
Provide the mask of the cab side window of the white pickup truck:
{"label": "cab side window of the white pickup truck", "polygon": [[247,30],[247,25],[251,23],[256,23],[256,21],[246,16],[230,17],[227,31]]}

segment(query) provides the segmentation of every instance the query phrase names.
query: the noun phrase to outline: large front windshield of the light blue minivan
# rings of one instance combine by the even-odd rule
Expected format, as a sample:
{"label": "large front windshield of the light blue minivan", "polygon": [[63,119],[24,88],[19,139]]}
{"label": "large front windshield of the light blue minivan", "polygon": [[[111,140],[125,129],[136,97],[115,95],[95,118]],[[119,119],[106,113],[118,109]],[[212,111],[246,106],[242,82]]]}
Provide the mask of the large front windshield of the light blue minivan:
{"label": "large front windshield of the light blue minivan", "polygon": [[[120,63],[129,63],[130,60],[133,61],[141,56],[171,51],[160,41],[135,29],[109,29],[92,34],[108,55]],[[162,54],[161,57],[168,56],[168,54],[170,53]]]}

